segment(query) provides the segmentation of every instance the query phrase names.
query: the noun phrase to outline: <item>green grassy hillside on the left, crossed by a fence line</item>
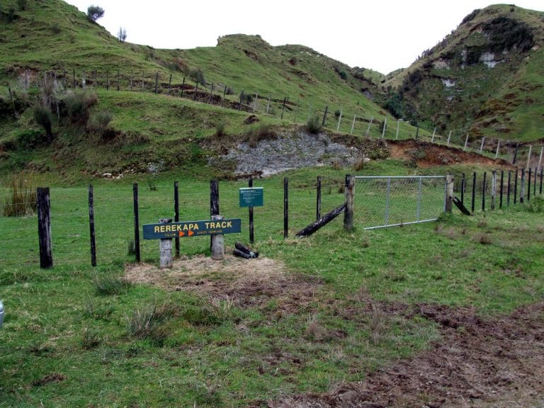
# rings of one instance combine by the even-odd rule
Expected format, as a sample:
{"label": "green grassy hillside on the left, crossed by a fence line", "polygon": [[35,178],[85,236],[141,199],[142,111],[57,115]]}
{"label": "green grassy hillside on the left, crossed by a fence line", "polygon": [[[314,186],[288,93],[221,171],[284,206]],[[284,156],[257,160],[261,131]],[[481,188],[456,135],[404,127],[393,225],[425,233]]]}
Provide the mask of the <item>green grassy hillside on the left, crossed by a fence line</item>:
{"label": "green grassy hillside on the left, crossed by a fence line", "polygon": [[[6,1],[0,29],[2,172],[142,171],[147,162],[166,157],[168,168],[201,173],[198,167],[211,152],[206,140],[217,134],[234,143],[261,125],[290,128],[311,115],[322,118],[326,107],[330,130],[341,112],[339,132],[351,132],[357,115],[359,137],[370,120],[369,135],[375,137],[385,118],[393,123],[376,103],[385,100],[377,72],[352,69],[300,45],[272,47],[259,35],[227,35],[216,47],[155,50],[118,41],[60,0],[28,0],[24,9]],[[73,120],[67,99],[84,85],[88,112]],[[246,98],[238,112],[242,91]],[[198,103],[210,99],[214,106]],[[52,135],[35,117],[38,101],[47,101]],[[94,132],[89,120],[103,112],[111,122]],[[259,124],[244,123],[248,112],[258,115]],[[408,123],[400,131],[416,134]],[[395,125],[386,137],[395,137]]]}

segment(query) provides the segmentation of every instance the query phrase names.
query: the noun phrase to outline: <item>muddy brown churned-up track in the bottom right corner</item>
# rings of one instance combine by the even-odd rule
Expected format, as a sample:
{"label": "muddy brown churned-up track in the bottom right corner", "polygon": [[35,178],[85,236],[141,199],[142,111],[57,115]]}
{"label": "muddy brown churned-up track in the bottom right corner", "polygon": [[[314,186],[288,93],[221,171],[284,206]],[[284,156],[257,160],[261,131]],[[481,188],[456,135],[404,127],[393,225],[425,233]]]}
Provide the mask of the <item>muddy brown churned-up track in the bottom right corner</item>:
{"label": "muddy brown churned-up track in the bottom right corner", "polygon": [[544,407],[544,302],[493,320],[436,305],[415,312],[440,324],[443,341],[364,382],[268,407]]}

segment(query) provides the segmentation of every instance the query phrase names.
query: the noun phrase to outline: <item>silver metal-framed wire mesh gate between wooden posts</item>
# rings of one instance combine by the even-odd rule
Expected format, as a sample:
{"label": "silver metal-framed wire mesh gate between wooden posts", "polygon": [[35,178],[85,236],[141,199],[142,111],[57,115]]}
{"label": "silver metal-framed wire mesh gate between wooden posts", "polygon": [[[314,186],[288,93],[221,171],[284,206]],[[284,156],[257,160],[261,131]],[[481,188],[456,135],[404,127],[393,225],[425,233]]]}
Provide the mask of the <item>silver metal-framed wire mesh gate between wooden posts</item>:
{"label": "silver metal-framed wire mesh gate between wooden posts", "polygon": [[363,229],[435,221],[446,208],[446,176],[356,176]]}

